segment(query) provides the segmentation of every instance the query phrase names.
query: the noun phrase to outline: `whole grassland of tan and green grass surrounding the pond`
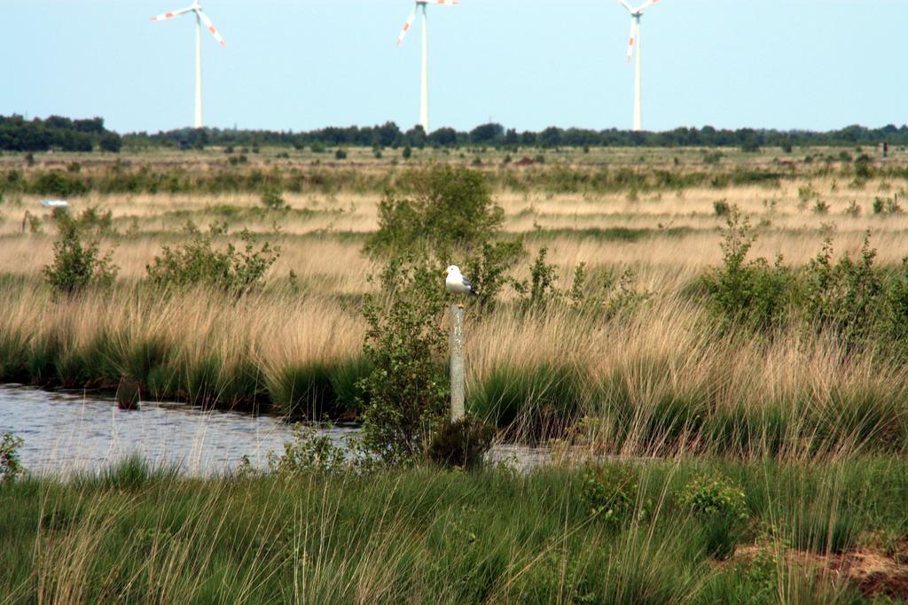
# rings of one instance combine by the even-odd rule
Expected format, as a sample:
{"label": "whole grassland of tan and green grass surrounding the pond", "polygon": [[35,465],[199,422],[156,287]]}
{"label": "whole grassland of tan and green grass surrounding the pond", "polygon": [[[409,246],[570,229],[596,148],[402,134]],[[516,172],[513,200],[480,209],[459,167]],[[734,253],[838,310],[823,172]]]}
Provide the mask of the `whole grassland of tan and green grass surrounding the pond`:
{"label": "whole grassland of tan and green grass surrounding the pond", "polygon": [[[382,200],[449,167],[479,173],[503,211],[491,241],[524,249],[497,298],[466,307],[469,416],[558,464],[338,473],[307,442],[307,464],[288,451],[274,473],[211,483],[132,461],[83,483],[0,485],[0,511],[18,498],[23,523],[0,521],[0,542],[59,538],[37,560],[0,555],[15,570],[0,571],[0,602],[64,589],[73,602],[908,598],[908,151],[346,151],[0,156],[0,380],[383,418],[369,309],[391,322],[409,303],[382,287],[389,258],[364,247]],[[49,285],[59,221],[40,201],[60,198],[76,218],[94,209],[83,232],[111,251],[107,287]],[[152,283],[164,247],[242,251],[243,229],[252,252],[280,249],[254,288]],[[454,302],[441,272],[469,277],[476,253],[445,250],[424,265],[440,376]],[[423,334],[406,321],[382,326]],[[407,376],[431,371],[398,361]],[[402,394],[429,388],[392,378]],[[624,462],[591,462],[603,458]],[[26,529],[38,493],[54,529]],[[150,529],[136,538],[130,524]],[[155,577],[163,567],[173,573]]]}

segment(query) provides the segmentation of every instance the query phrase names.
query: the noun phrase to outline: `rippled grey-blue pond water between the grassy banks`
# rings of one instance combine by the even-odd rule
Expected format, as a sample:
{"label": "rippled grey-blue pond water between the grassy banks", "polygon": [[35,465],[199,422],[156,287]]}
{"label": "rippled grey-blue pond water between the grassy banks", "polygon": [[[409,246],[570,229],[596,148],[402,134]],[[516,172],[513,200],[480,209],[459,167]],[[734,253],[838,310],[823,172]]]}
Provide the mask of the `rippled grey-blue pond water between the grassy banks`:
{"label": "rippled grey-blue pond water between the grassy banks", "polygon": [[[336,444],[355,426],[321,429]],[[184,473],[230,471],[244,455],[256,468],[268,453],[280,454],[291,427],[271,415],[203,411],[185,404],[146,402],[138,411],[121,410],[113,398],[74,392],[0,385],[0,434],[25,440],[22,464],[32,473],[69,474],[96,470],[128,454],[151,464],[177,464]],[[551,458],[544,448],[501,444],[489,459],[527,470]]]}

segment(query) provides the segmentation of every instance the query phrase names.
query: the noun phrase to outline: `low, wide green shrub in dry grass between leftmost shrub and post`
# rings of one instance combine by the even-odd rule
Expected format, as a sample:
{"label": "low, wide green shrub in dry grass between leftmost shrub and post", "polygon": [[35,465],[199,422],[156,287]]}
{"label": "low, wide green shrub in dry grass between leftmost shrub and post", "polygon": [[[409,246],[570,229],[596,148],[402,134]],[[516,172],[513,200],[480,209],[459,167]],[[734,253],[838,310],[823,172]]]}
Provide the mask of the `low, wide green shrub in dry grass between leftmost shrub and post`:
{"label": "low, wide green shrub in dry grass between leftmost shrub and post", "polygon": [[240,234],[245,244],[242,251],[233,244],[225,251],[214,249],[217,229],[205,234],[190,222],[185,230],[191,238],[189,243],[178,249],[164,246],[162,256],[145,267],[154,285],[180,288],[203,284],[243,294],[261,285],[265,273],[281,255],[279,247],[271,248],[268,243],[255,249],[256,239],[247,229]]}

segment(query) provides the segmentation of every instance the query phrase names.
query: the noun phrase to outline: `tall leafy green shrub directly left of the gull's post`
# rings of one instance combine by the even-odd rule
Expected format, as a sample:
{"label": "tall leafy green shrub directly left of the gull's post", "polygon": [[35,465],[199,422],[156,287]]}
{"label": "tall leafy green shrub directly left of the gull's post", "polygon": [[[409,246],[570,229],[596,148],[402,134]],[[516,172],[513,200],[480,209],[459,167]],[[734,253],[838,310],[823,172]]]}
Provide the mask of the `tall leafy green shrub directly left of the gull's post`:
{"label": "tall leafy green shrub directly left of the gull's post", "polygon": [[425,263],[394,260],[381,274],[387,304],[370,295],[363,305],[369,326],[363,351],[372,369],[358,383],[362,438],[387,464],[412,464],[424,456],[448,410],[438,276]]}

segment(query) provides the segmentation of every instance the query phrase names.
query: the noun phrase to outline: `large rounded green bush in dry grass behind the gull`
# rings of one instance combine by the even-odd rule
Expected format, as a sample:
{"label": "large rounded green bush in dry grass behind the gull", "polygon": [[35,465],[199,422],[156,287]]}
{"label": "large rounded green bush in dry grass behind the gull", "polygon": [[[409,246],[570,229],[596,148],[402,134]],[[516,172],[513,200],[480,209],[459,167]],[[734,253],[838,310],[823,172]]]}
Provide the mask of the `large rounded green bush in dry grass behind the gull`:
{"label": "large rounded green bush in dry grass behind the gull", "polygon": [[440,258],[457,246],[488,241],[503,211],[491,199],[482,174],[433,165],[401,179],[411,197],[389,191],[379,205],[379,229],[366,242],[372,255],[432,249]]}

